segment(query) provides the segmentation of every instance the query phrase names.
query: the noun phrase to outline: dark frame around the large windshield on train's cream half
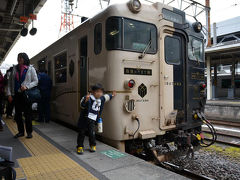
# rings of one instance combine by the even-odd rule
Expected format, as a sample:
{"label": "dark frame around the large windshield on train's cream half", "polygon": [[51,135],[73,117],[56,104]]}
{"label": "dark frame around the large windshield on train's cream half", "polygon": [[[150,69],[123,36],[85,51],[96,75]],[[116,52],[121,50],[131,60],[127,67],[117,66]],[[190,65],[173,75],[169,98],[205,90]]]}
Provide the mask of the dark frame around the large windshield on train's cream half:
{"label": "dark frame around the large windshield on train's cream half", "polygon": [[[118,18],[118,19],[121,19],[121,32],[120,32],[120,38],[121,38],[121,45],[117,48],[108,48],[108,40],[107,40],[107,36],[108,36],[108,31],[107,31],[107,22],[109,19],[111,18]],[[124,47],[124,39],[125,39],[125,36],[124,36],[124,21],[125,20],[131,20],[131,21],[135,21],[135,22],[140,22],[140,23],[144,23],[144,24],[148,24],[148,25],[151,25],[152,27],[154,27],[155,29],[155,37],[156,39],[154,40],[154,44],[156,46],[155,48],[155,51],[154,52],[146,52],[146,54],[156,54],[158,52],[158,30],[157,30],[157,26],[153,23],[149,23],[149,22],[145,22],[145,21],[139,21],[139,20],[136,20],[136,19],[131,19],[131,18],[126,18],[126,17],[119,17],[119,16],[110,16],[107,18],[106,22],[105,22],[105,47],[107,50],[121,50],[121,51],[128,51],[128,52],[136,52],[136,53],[142,53],[141,50],[134,50],[134,49],[127,49]],[[152,36],[151,36],[152,37]]]}

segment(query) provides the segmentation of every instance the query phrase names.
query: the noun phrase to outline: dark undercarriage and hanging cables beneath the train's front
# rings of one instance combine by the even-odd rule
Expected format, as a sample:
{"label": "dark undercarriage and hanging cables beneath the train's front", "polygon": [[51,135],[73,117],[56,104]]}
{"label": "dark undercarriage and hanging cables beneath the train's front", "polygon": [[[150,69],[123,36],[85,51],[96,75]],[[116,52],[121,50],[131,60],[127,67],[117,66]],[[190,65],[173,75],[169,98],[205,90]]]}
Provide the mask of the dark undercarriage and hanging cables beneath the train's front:
{"label": "dark undercarriage and hanging cables beneath the train's front", "polygon": [[194,152],[201,147],[212,145],[216,139],[216,131],[211,123],[201,116],[212,137],[210,141],[205,141],[201,126],[188,130],[172,130],[164,135],[159,135],[152,139],[133,139],[125,142],[126,152],[146,160],[166,162],[179,157],[187,159],[194,158]]}

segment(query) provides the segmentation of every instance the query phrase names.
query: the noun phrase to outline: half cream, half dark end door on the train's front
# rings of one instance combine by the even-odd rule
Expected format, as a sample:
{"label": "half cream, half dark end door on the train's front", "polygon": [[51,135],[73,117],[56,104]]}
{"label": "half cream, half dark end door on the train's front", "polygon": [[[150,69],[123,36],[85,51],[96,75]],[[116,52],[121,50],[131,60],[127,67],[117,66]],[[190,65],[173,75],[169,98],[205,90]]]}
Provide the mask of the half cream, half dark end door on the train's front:
{"label": "half cream, half dark end door on the train's front", "polygon": [[174,29],[161,28],[160,128],[175,128],[185,116],[185,38]]}

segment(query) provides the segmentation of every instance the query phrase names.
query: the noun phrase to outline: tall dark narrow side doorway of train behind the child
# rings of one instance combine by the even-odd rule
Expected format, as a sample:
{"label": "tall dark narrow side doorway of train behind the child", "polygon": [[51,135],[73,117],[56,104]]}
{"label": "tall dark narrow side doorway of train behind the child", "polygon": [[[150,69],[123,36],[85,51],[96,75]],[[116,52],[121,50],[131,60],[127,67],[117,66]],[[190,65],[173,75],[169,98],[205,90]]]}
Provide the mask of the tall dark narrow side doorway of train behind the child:
{"label": "tall dark narrow side doorway of train behind the child", "polygon": [[78,75],[78,96],[79,96],[79,110],[80,99],[87,94],[88,91],[88,41],[87,36],[79,41],[79,75]]}

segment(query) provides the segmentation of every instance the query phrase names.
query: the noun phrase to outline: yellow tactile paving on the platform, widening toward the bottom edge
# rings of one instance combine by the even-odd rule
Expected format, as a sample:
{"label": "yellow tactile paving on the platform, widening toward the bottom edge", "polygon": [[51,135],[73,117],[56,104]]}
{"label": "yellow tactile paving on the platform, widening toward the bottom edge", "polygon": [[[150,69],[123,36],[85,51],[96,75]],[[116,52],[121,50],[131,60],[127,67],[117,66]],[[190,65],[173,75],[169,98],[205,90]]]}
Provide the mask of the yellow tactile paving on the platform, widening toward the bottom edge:
{"label": "yellow tactile paving on the platform, widening toward the bottom edge", "polygon": [[[13,120],[6,120],[6,124],[13,134],[17,133],[16,123]],[[27,180],[97,180],[95,176],[38,133],[33,132],[32,139],[22,137],[19,140],[32,155],[32,157],[18,159]]]}

